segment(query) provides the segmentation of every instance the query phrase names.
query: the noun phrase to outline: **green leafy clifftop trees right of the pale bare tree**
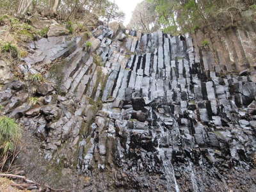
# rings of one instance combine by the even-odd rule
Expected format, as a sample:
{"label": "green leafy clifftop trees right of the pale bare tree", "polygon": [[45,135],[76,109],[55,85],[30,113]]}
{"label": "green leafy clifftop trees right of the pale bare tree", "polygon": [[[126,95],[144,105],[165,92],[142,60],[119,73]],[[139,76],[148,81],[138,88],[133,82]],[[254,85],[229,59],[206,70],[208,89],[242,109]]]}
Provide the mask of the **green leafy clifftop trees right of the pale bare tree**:
{"label": "green leafy clifftop trees right of the pale bare tree", "polygon": [[[207,26],[219,29],[232,26],[234,21],[243,20],[244,10],[256,10],[253,1],[236,0],[148,0],[155,5],[158,22],[166,33],[193,33],[199,28]],[[175,27],[173,27],[175,26]]]}

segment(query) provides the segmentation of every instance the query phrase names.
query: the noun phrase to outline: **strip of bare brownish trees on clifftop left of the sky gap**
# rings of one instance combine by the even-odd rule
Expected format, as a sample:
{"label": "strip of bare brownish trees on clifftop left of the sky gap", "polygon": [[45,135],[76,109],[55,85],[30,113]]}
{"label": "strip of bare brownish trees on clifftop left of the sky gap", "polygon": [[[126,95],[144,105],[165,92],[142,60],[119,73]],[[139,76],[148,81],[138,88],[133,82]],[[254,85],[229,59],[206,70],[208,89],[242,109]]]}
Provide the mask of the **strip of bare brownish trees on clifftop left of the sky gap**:
{"label": "strip of bare brownish trees on clifftop left of the sky gap", "polygon": [[124,20],[124,13],[111,0],[1,0],[1,14],[41,13],[61,20],[97,15],[102,21]]}

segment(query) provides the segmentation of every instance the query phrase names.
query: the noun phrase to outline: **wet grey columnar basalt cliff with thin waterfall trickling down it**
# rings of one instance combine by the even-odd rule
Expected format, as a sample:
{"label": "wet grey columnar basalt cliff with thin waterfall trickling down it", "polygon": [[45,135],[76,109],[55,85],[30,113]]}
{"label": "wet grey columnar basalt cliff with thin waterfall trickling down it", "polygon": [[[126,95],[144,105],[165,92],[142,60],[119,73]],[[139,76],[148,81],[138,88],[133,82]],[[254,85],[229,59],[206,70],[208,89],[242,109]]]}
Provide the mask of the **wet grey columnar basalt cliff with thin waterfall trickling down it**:
{"label": "wet grey columnar basalt cliff with thin waterfall trickling down it", "polygon": [[205,67],[188,35],[99,26],[89,41],[42,38],[20,70],[54,61],[47,80],[1,88],[24,125],[27,177],[67,191],[256,190],[253,73]]}

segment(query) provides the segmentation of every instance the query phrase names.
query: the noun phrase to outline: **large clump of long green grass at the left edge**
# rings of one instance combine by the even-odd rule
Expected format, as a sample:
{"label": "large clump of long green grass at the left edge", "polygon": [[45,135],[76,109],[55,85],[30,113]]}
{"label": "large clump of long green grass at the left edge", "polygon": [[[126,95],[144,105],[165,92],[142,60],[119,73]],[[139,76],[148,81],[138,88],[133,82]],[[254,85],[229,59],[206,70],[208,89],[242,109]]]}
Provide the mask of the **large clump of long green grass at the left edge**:
{"label": "large clump of long green grass at the left edge", "polygon": [[8,152],[13,152],[15,144],[19,141],[21,129],[19,124],[8,118],[7,116],[0,117],[0,150],[2,155]]}

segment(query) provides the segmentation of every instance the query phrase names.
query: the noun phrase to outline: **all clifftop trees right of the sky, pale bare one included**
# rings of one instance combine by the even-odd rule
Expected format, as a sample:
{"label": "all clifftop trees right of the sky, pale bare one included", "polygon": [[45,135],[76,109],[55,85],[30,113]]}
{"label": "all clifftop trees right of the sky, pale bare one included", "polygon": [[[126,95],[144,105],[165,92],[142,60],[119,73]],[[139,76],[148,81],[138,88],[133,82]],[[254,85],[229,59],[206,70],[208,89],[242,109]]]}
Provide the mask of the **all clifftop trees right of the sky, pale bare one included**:
{"label": "all clifftop trees right of the sky, pale bare one included", "polygon": [[173,35],[205,26],[219,29],[233,26],[238,20],[248,20],[244,11],[251,9],[255,12],[255,7],[255,0],[147,0],[134,10],[130,26],[148,31],[149,20]]}

